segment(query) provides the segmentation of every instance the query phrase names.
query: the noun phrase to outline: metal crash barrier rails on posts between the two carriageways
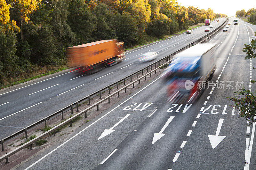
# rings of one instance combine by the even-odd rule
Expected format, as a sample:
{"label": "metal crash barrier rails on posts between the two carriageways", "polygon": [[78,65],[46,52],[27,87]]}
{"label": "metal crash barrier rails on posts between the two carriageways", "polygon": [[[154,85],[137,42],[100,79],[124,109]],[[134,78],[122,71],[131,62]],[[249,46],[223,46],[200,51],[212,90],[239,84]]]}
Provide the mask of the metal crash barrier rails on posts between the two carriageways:
{"label": "metal crash barrier rails on posts between the two carriageways", "polygon": [[[20,150],[22,150],[22,149],[24,149],[24,148],[26,148],[26,147],[28,147],[28,146],[30,146],[30,149],[32,149],[32,144],[33,144],[33,143],[35,143],[37,140],[43,138],[44,136],[51,134],[52,132],[53,132],[53,134],[54,134],[54,136],[55,136],[55,130],[56,130],[56,129],[62,127],[63,125],[65,125],[65,124],[67,124],[67,123],[69,123],[69,122],[70,122],[70,126],[72,126],[72,120],[76,119],[78,116],[80,116],[80,115],[82,115],[82,114],[85,114],[85,117],[87,117],[87,114],[86,114],[87,111],[91,110],[92,108],[94,108],[94,107],[97,106],[97,110],[99,110],[99,104],[101,104],[101,103],[104,102],[105,100],[108,100],[108,103],[110,103],[110,97],[113,97],[113,96],[116,95],[116,94],[117,94],[117,97],[119,97],[119,92],[121,92],[121,91],[124,90],[125,93],[126,93],[126,88],[127,88],[127,87],[129,87],[129,86],[132,85],[132,87],[134,88],[134,83],[136,83],[136,82],[139,81],[139,84],[140,84],[140,80],[141,80],[142,78],[145,78],[145,80],[146,80],[146,77],[147,77],[148,75],[150,75],[150,77],[151,77],[151,74],[152,74],[153,72],[155,72],[155,74],[156,74],[156,70],[159,69],[159,71],[161,71],[161,67],[163,67],[163,64],[166,65],[166,64],[170,64],[170,63],[171,63],[171,61],[172,61],[171,57],[173,58],[174,55],[178,54],[179,52],[181,52],[181,51],[183,51],[183,50],[185,50],[185,49],[187,49],[187,48],[192,47],[193,45],[196,45],[196,44],[198,44],[198,43],[202,43],[202,42],[205,42],[205,41],[209,40],[209,39],[210,39],[213,35],[215,35],[227,22],[228,22],[228,18],[226,18],[226,21],[225,21],[222,25],[220,25],[219,27],[217,27],[214,31],[212,31],[212,32],[210,32],[210,33],[204,35],[204,36],[201,37],[200,39],[198,39],[198,40],[196,40],[196,41],[194,41],[194,42],[188,44],[187,46],[185,46],[185,47],[183,47],[183,48],[180,48],[179,50],[175,51],[174,53],[172,53],[172,54],[170,54],[170,55],[168,55],[168,56],[166,56],[166,57],[164,57],[164,58],[162,58],[162,59],[156,61],[156,62],[153,63],[153,64],[148,65],[147,67],[145,67],[145,68],[143,68],[143,69],[141,69],[141,70],[139,70],[139,71],[136,71],[136,72],[132,73],[131,75],[129,75],[129,76],[125,77],[125,78],[122,78],[121,80],[116,81],[115,83],[113,83],[113,84],[111,84],[111,85],[108,85],[108,86],[102,88],[101,90],[99,90],[99,91],[97,91],[97,92],[94,92],[94,93],[92,93],[92,94],[90,94],[90,95],[84,97],[84,98],[81,99],[81,100],[78,100],[78,101],[72,103],[71,105],[69,105],[69,106],[67,106],[67,107],[65,107],[65,108],[62,108],[61,110],[59,110],[59,111],[53,113],[52,115],[49,115],[49,116],[45,117],[44,119],[41,119],[40,121],[37,121],[37,122],[35,122],[35,123],[29,125],[28,127],[24,128],[24,129],[21,129],[21,130],[19,130],[18,132],[14,133],[14,134],[12,134],[12,135],[10,135],[10,136],[8,136],[8,137],[5,137],[4,139],[1,140],[2,151],[4,151],[4,142],[5,142],[5,141],[10,140],[11,138],[13,138],[13,137],[15,137],[15,136],[17,136],[17,135],[19,135],[19,134],[21,134],[21,133],[23,133],[23,132],[25,132],[25,137],[28,138],[28,135],[27,135],[27,130],[28,130],[28,129],[31,129],[31,128],[33,128],[34,126],[36,126],[36,125],[38,125],[38,124],[40,124],[40,123],[42,123],[42,122],[44,122],[44,125],[47,126],[46,120],[48,120],[48,119],[50,119],[50,118],[52,118],[52,117],[54,117],[54,116],[58,116],[58,115],[60,115],[60,114],[61,114],[61,120],[63,120],[63,119],[64,119],[64,117],[63,117],[64,111],[68,111],[68,110],[71,109],[71,115],[73,115],[73,107],[74,107],[74,105],[76,105],[76,111],[78,112],[78,103],[81,103],[81,102],[83,102],[84,100],[88,100],[88,104],[91,105],[91,104],[90,104],[90,98],[94,97],[95,95],[99,95],[99,96],[100,96],[100,99],[101,99],[101,92],[103,92],[103,91],[108,91],[108,93],[110,94],[110,89],[111,89],[112,87],[115,87],[115,86],[116,86],[116,89],[117,89],[116,92],[113,92],[112,94],[110,94],[110,95],[107,96],[106,98],[104,98],[104,99],[102,99],[102,100],[96,102],[95,104],[93,104],[93,105],[91,105],[90,107],[84,109],[83,111],[79,112],[79,113],[76,114],[75,116],[72,116],[71,118],[69,118],[69,119],[67,119],[67,120],[65,120],[65,121],[63,121],[63,122],[61,122],[61,123],[58,124],[57,126],[55,126],[55,127],[53,127],[52,129],[50,129],[50,130],[44,132],[43,134],[39,135],[38,137],[36,137],[36,138],[34,138],[34,139],[28,141],[27,143],[21,145],[20,147],[18,147],[18,148],[16,148],[16,149],[12,150],[11,152],[6,153],[6,154],[3,155],[2,157],[0,157],[0,161],[6,159],[6,162],[8,163],[8,157],[10,157],[11,155],[13,155],[14,153],[19,152]],[[158,65],[158,67],[156,67],[157,65]],[[153,70],[153,66],[155,67],[154,70]],[[150,71],[150,72],[148,72],[148,68],[151,68],[151,71]],[[147,71],[148,73],[146,73],[146,74],[143,75],[143,71]],[[141,73],[142,76],[141,76],[140,78],[138,78],[138,74],[140,74],[140,73]],[[134,76],[136,76],[137,79],[132,82],[132,77],[134,77]],[[127,80],[130,80],[131,83],[129,83],[128,85],[125,85],[125,81],[127,81]],[[120,82],[124,83],[125,86],[118,90],[118,84],[119,84]]]}

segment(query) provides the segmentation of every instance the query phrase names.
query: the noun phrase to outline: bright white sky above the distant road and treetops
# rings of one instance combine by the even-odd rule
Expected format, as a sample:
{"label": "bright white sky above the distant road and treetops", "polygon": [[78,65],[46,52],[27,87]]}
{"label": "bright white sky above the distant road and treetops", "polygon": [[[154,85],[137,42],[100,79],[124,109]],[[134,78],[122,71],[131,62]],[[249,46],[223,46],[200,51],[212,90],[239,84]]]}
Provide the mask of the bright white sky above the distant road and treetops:
{"label": "bright white sky above the distant road and treetops", "polygon": [[229,17],[235,16],[236,11],[248,11],[256,8],[256,0],[177,0],[181,6],[194,6],[199,9],[207,10],[209,7],[214,13],[227,14]]}

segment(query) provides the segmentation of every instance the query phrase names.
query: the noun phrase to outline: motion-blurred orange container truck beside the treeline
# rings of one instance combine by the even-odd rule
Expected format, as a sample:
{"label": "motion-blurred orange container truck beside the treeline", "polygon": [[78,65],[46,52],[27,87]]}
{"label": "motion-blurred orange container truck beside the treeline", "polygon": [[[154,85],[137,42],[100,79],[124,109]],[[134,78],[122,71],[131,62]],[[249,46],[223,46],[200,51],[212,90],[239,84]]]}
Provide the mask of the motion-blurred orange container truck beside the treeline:
{"label": "motion-blurred orange container truck beside the treeline", "polygon": [[124,58],[124,42],[101,40],[67,48],[69,67],[78,72],[93,73]]}

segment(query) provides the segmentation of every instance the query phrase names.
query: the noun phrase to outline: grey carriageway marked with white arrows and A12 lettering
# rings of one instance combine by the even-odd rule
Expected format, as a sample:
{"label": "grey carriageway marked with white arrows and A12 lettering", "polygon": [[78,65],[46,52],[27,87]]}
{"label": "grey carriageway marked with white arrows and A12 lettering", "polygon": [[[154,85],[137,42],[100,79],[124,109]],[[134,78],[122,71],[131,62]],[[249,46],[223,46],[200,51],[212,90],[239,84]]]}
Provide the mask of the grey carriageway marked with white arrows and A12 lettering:
{"label": "grey carriageway marked with white arrows and A12 lettering", "polygon": [[19,168],[256,169],[255,123],[246,126],[226,98],[241,82],[256,90],[249,82],[256,61],[241,51],[256,27],[233,19],[228,32],[208,41],[217,43],[217,68],[197,102],[167,103],[160,75]]}

